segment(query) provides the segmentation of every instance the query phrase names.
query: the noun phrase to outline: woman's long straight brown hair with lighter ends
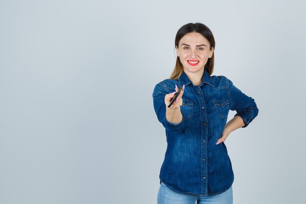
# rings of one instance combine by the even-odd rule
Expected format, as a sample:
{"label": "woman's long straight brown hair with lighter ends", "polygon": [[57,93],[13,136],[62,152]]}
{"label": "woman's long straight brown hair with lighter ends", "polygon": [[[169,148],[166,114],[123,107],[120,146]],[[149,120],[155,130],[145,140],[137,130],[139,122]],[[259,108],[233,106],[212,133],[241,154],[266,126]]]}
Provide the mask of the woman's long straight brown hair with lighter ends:
{"label": "woman's long straight brown hair with lighter ends", "polygon": [[[192,32],[197,32],[201,34],[204,38],[206,38],[209,43],[210,43],[210,50],[212,47],[214,47],[215,50],[215,38],[213,36],[212,31],[204,24],[202,23],[187,23],[183,25],[181,28],[178,29],[176,36],[175,36],[175,47],[178,47],[178,43],[184,35],[187,33],[192,33]],[[214,52],[211,58],[208,58],[207,63],[205,65],[205,69],[211,75],[214,71],[214,61],[215,61],[215,56]],[[176,63],[175,63],[175,68],[170,76],[170,79],[178,79],[180,75],[183,73],[184,67],[182,63],[179,61],[179,57],[176,57]]]}

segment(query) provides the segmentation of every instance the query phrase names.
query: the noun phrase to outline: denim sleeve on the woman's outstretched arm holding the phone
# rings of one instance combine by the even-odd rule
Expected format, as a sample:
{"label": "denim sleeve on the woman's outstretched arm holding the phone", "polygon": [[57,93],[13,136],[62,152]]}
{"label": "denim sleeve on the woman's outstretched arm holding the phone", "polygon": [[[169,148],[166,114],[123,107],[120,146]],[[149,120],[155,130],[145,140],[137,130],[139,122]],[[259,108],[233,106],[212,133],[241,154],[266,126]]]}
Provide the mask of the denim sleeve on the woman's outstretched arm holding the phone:
{"label": "denim sleeve on the woman's outstretched arm holding the phone", "polygon": [[163,124],[167,131],[179,133],[184,129],[184,120],[182,119],[179,123],[172,123],[166,118],[165,95],[168,93],[160,83],[155,86],[153,91],[154,111],[158,121]]}

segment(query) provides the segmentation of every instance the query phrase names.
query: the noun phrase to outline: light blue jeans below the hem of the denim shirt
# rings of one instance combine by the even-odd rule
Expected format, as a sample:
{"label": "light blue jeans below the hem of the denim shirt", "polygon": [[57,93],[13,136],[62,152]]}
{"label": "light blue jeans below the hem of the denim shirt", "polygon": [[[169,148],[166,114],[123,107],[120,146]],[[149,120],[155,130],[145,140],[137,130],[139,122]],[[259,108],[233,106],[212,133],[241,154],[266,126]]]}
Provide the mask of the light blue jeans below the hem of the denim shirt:
{"label": "light blue jeans below the hem of the denim shirt", "polygon": [[217,195],[198,196],[176,193],[161,182],[157,194],[157,204],[196,204],[196,202],[197,204],[233,204],[232,186]]}

